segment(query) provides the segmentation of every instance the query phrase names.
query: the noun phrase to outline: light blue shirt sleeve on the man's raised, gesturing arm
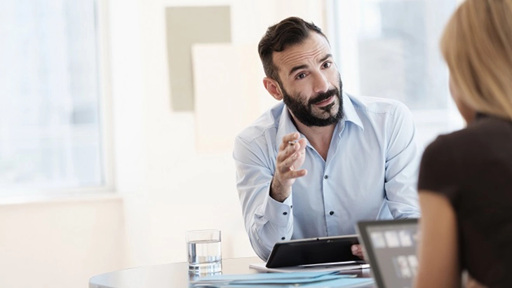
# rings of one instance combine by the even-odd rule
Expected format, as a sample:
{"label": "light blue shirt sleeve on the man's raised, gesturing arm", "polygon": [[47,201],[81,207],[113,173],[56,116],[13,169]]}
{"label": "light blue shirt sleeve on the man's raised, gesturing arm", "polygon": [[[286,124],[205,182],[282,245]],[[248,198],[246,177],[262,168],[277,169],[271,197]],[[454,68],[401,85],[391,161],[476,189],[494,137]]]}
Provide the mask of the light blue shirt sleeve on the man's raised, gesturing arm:
{"label": "light blue shirt sleeve on the man's raised, gesturing arm", "polygon": [[256,254],[266,261],[277,241],[292,237],[292,196],[283,203],[270,197],[274,160],[269,159],[269,152],[264,153],[262,146],[238,136],[233,157],[245,230]]}

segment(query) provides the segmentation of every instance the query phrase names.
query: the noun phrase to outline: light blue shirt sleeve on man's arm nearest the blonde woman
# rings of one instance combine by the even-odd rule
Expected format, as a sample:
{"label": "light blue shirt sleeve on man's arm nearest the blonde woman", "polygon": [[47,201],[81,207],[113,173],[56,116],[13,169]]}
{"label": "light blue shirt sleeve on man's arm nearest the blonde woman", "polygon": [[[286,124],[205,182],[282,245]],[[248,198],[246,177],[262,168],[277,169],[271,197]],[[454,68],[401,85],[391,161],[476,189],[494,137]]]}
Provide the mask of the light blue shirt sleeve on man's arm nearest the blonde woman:
{"label": "light blue shirt sleeve on man's arm nearest the blonde woman", "polygon": [[398,103],[388,123],[385,184],[386,201],[394,219],[419,218],[417,178],[423,147],[412,115]]}

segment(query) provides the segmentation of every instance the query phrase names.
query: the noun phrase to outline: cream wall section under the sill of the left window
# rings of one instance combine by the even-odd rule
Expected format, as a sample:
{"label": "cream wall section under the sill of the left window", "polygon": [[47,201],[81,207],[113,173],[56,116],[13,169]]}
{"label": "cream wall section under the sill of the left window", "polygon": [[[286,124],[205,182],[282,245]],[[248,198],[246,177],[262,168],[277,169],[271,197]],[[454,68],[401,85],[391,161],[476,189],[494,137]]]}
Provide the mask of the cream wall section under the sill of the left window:
{"label": "cream wall section under the sill of the left window", "polygon": [[0,205],[0,287],[87,287],[123,267],[119,198]]}

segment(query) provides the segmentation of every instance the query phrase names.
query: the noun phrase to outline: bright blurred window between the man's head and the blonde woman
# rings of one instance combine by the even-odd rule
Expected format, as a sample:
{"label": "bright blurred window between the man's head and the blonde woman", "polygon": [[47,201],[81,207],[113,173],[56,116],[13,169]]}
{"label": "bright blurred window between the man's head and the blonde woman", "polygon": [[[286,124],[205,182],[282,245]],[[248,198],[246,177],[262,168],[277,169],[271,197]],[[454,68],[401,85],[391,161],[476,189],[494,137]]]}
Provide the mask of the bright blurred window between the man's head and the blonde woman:
{"label": "bright blurred window between the man's head and the blonde woman", "polygon": [[406,104],[425,145],[463,125],[439,50],[456,6],[456,0],[333,0],[328,5],[344,90]]}

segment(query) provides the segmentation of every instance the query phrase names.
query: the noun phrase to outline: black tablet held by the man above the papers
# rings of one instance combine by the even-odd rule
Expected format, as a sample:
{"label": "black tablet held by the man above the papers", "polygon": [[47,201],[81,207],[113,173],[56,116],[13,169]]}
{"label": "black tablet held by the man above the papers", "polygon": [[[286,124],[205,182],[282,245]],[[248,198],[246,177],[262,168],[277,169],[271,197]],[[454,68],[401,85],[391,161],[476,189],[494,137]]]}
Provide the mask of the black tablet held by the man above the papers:
{"label": "black tablet held by the man above the papers", "polygon": [[361,261],[352,254],[354,244],[359,244],[357,235],[277,242],[267,260],[267,268]]}

